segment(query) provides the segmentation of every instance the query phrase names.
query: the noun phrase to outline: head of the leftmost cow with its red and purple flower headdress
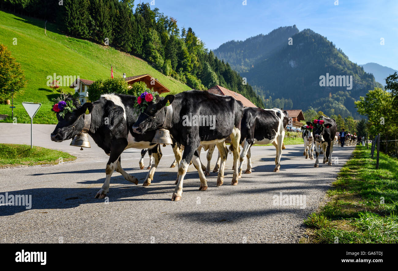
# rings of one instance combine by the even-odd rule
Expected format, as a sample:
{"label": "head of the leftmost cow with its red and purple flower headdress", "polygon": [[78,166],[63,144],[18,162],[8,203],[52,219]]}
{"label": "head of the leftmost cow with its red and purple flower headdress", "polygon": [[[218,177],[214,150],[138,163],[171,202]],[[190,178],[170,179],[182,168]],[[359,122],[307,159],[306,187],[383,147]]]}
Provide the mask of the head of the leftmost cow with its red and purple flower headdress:
{"label": "head of the leftmost cow with its red and purple flower headdress", "polygon": [[55,126],[54,132],[51,133],[51,140],[55,142],[61,142],[63,140],[71,139],[80,133],[84,127],[84,116],[83,114],[88,109],[91,112],[93,104],[85,103],[80,105],[80,103],[73,99],[71,96],[64,99],[65,101],[73,101],[75,110],[72,112],[67,112],[63,117],[60,116],[60,112],[57,112],[58,124]]}

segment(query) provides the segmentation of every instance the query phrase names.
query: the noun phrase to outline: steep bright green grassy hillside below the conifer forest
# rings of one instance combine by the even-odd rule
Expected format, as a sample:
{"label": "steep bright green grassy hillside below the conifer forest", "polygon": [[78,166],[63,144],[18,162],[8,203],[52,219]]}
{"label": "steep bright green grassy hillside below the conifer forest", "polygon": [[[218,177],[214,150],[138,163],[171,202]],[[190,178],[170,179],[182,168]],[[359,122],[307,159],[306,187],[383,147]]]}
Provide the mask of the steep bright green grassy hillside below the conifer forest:
{"label": "steep bright green grassy hillside below the conifer forest", "polygon": [[[22,102],[38,102],[42,106],[33,122],[41,124],[57,123],[51,110],[51,99],[58,93],[47,87],[47,76],[79,75],[82,79],[106,79],[111,75],[122,77],[150,74],[170,89],[170,94],[190,90],[190,88],[172,77],[156,71],[144,60],[101,46],[90,41],[74,39],[59,31],[57,25],[30,17],[17,16],[0,11],[0,42],[12,52],[12,56],[21,63],[28,80],[25,92],[14,98],[14,116],[18,123],[29,123],[30,118],[21,105]],[[17,38],[17,45],[13,39]],[[63,87],[64,91],[71,91]],[[0,114],[11,116],[9,105],[0,105]],[[7,122],[12,122],[10,118]]]}

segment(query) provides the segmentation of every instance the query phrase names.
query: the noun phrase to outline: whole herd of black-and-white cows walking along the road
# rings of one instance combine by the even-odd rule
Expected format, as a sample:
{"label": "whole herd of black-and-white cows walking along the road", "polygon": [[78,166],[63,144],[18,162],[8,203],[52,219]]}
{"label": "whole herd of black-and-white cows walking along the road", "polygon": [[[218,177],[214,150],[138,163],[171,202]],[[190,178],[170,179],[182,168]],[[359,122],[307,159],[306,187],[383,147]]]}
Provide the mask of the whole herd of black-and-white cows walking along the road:
{"label": "whole herd of black-and-white cows walking along the road", "polygon": [[[138,184],[138,179],[121,167],[120,155],[128,148],[142,149],[142,157],[149,151],[151,161],[143,186],[150,185],[162,157],[160,144],[152,143],[156,130],[160,128],[170,131],[175,165],[178,165],[176,188],[172,196],[174,201],[181,199],[183,180],[190,163],[193,163],[199,173],[199,190],[207,190],[206,176],[210,174],[210,160],[215,147],[219,151],[218,163],[213,170],[218,171],[217,186],[221,186],[224,181],[228,152],[233,153],[234,159],[231,185],[237,185],[238,179],[242,177],[245,157],[247,169],[244,173],[251,173],[250,148],[256,143],[272,143],[276,148],[274,172],[279,172],[281,167],[283,138],[289,122],[288,113],[284,110],[244,108],[242,103],[233,97],[197,90],[167,95],[164,98],[156,96],[143,112],[138,112],[134,107],[137,97],[131,95],[105,94],[98,101],[84,105],[80,105],[79,101],[72,97],[67,97],[66,100],[73,101],[76,109],[67,112],[64,117],[60,117],[57,112],[58,124],[51,133],[51,140],[61,142],[85,131],[109,155],[105,168],[105,182],[96,198],[104,198],[109,192],[109,182],[115,170],[126,180]],[[184,125],[183,116],[194,115],[214,116],[216,125]],[[306,158],[314,159],[315,149],[315,167],[319,166],[318,157],[322,153],[323,163],[332,165],[333,145],[336,143],[337,133],[336,121],[320,116],[319,120],[314,122],[307,122],[312,129],[303,131],[304,155]],[[229,148],[226,146],[226,139],[230,141]],[[199,158],[202,148],[208,151],[207,166],[204,166]],[[144,168],[142,159],[140,168]]]}

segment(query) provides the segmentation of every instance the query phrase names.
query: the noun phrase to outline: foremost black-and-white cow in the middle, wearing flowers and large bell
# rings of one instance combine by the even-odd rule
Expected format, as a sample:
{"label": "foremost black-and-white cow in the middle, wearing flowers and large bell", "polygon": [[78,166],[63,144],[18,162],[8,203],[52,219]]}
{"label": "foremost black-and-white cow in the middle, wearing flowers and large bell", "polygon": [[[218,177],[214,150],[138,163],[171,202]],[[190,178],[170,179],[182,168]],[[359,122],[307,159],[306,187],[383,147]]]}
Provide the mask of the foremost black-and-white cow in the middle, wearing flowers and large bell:
{"label": "foremost black-and-white cow in the middle, wearing flowers and large bell", "polygon": [[[171,108],[166,108],[167,103]],[[184,147],[182,157],[175,152],[178,166],[178,182],[172,200],[181,199],[183,179],[187,172],[189,162],[192,161],[200,178],[199,190],[207,190],[207,180],[201,170],[201,162],[197,148],[199,145],[216,144],[222,153],[222,163],[217,178],[217,186],[222,185],[227,149],[224,143],[226,137],[232,139],[231,148],[234,154],[235,170],[232,185],[238,184],[238,159],[240,140],[240,121],[243,115],[243,105],[229,96],[220,96],[207,91],[184,91],[177,95],[156,97],[145,108],[133,126],[136,133],[144,133],[162,127],[166,119],[166,111],[172,109],[172,120],[166,128],[177,143]],[[193,122],[193,118],[198,121]],[[213,119],[213,126],[203,125],[203,120]],[[188,119],[188,121],[187,121]],[[192,121],[190,122],[189,119]],[[200,121],[202,120],[202,122]],[[181,161],[181,162],[179,162]]]}

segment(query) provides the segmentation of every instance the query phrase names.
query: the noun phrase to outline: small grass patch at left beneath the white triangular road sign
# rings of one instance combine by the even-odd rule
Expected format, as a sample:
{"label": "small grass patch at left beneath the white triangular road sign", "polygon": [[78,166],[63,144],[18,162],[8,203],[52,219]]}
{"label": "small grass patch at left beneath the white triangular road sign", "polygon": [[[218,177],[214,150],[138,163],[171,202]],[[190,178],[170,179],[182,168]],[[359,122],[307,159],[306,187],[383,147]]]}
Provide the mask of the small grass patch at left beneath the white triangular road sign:
{"label": "small grass patch at left beneath the white triangular road sign", "polygon": [[30,148],[30,145],[0,144],[0,167],[20,165],[58,164],[61,161],[72,161],[76,157],[69,153],[46,149],[42,147]]}

